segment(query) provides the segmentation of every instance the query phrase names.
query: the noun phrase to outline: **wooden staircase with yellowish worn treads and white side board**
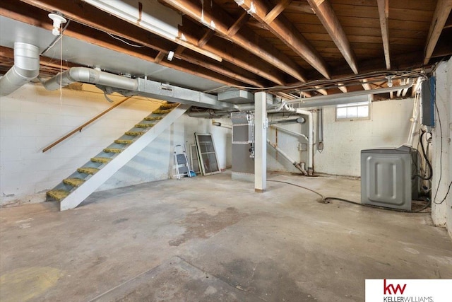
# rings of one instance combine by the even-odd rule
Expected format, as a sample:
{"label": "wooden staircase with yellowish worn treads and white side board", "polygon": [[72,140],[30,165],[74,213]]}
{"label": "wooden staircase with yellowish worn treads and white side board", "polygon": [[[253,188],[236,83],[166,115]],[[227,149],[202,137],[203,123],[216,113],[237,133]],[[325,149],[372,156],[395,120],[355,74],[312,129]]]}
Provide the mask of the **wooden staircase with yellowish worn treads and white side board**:
{"label": "wooden staircase with yellowish worn treads and white side board", "polygon": [[61,211],[77,207],[189,108],[189,105],[178,103],[160,105],[135,127],[69,175],[69,178],[49,190],[47,201],[58,201]]}

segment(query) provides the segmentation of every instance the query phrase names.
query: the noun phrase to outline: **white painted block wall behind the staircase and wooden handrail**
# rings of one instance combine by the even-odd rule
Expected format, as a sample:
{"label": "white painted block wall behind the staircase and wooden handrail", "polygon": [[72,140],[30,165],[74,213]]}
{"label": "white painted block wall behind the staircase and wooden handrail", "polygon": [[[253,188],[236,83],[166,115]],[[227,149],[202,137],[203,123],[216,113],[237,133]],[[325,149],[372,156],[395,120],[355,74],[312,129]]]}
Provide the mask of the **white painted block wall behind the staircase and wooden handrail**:
{"label": "white painted block wall behind the staircase and wooden handrail", "polygon": [[[84,91],[45,91],[28,84],[0,100],[0,205],[42,202],[45,192],[158,107],[156,100],[133,98],[81,132],[42,153],[42,149],[112,104],[94,86]],[[115,97],[119,100],[123,97]],[[211,129],[210,120],[183,116],[99,190],[163,180],[173,173],[173,146],[193,141],[194,132],[213,132],[221,168],[230,165],[227,132]],[[216,128],[216,127],[215,127]],[[227,131],[227,129],[225,129]],[[228,140],[229,139],[229,140]]]}

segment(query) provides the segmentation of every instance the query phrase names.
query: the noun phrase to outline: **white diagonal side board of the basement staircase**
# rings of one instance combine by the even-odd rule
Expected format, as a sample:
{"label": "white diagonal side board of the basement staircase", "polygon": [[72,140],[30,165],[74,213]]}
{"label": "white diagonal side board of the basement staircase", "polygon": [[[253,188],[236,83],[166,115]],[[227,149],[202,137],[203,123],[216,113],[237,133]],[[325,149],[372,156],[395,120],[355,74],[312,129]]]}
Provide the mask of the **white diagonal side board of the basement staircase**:
{"label": "white diagonal side board of the basement staircase", "polygon": [[90,196],[98,187],[106,182],[114,173],[122,168],[126,163],[142,151],[151,141],[156,139],[165,129],[167,129],[173,122],[181,117],[186,110],[190,108],[190,105],[179,105],[169,112],[162,120],[157,122],[154,127],[150,128],[148,132],[138,137],[136,141],[128,146],[124,151],[112,158],[109,163],[100,169],[97,173],[91,176],[88,180],[83,182],[80,187],[73,190],[66,198],[60,202],[60,211],[67,209],[73,209],[81,204],[86,197]]}

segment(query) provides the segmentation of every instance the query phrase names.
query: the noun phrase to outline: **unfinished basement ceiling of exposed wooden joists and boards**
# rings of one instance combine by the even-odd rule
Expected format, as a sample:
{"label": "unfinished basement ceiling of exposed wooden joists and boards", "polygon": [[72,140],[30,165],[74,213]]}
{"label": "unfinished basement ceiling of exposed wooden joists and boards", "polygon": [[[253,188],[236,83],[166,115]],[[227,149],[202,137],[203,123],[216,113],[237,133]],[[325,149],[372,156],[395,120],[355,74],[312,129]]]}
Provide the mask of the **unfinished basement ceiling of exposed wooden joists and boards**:
{"label": "unfinished basement ceiling of exposed wooden joists and boards", "polygon": [[[386,87],[391,71],[428,72],[449,57],[451,8],[451,0],[1,1],[0,65],[4,73],[13,63],[13,37],[3,38],[13,30],[3,23],[44,28],[48,37],[39,46],[45,47],[52,39],[47,14],[59,11],[71,20],[64,32],[73,46],[63,47],[66,66],[97,65],[198,90],[293,86],[278,88],[279,95],[330,95]],[[58,61],[55,50],[42,56],[45,76],[59,71]],[[167,76],[171,69],[183,74]],[[357,79],[340,81],[345,77]],[[394,80],[405,83],[400,74]]]}

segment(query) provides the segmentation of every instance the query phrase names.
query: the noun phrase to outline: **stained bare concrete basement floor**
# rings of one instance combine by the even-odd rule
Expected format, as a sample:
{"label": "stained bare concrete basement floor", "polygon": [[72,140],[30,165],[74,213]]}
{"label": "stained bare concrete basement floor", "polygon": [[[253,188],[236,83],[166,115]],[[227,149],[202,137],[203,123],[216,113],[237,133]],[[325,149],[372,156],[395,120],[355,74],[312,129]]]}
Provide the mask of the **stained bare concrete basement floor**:
{"label": "stained bare concrete basement floor", "polygon": [[[273,173],[359,201],[359,180]],[[452,278],[429,214],[321,204],[230,173],[0,210],[1,301],[364,301],[364,279]]]}

